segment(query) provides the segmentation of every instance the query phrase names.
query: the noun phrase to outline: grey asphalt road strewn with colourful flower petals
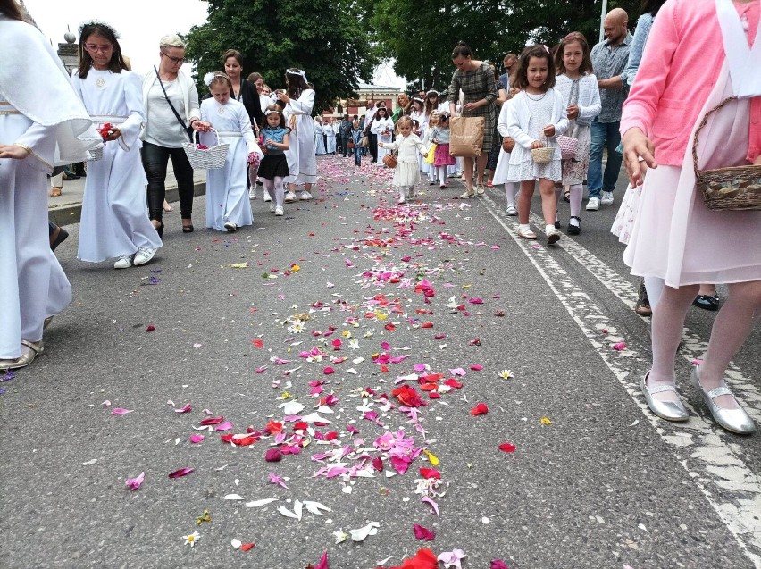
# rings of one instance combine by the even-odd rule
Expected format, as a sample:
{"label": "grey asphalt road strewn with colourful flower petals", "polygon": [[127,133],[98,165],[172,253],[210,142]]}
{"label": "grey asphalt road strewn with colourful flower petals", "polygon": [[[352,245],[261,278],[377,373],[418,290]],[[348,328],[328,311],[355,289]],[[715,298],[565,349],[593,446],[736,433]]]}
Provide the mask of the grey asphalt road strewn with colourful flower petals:
{"label": "grey asphalt road strewn with colourful flower petals", "polygon": [[[300,569],[328,551],[333,569],[371,569],[429,547],[472,568],[761,567],[761,435],[718,428],[688,382],[713,314],[686,322],[690,421],[657,420],[640,396],[647,322],[608,232],[623,179],[581,236],[546,247],[519,241],[497,189],[460,201],[458,183],[423,182],[397,207],[388,171],[319,164],[319,199],[283,218],[256,199],[234,235],[202,229],[197,198],[196,232],[169,216],[144,267],[80,263],[68,228],[75,299],[45,354],[0,378],[0,566]],[[761,423],[759,346],[757,327],[729,379]],[[403,413],[404,385],[426,405]],[[247,428],[250,445],[222,442]],[[289,454],[266,462],[276,447]],[[439,516],[415,492],[437,462]],[[297,519],[297,501],[330,509]]]}

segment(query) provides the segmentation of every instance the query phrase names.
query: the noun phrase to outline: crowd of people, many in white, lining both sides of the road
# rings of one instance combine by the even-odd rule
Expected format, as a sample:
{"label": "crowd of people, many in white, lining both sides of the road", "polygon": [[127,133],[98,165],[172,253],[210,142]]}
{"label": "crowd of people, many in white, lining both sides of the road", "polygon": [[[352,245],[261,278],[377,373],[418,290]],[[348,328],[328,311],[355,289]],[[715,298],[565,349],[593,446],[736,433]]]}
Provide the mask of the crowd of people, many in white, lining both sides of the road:
{"label": "crowd of people, many in white, lining both sides of the road", "polygon": [[[115,31],[100,23],[81,29],[71,89],[17,4],[0,0],[0,12],[4,37],[18,38],[0,53],[0,159],[13,164],[0,170],[0,192],[4,203],[16,204],[0,211],[0,301],[10,307],[0,315],[0,369],[22,367],[40,353],[45,322],[71,298],[39,231],[44,195],[32,191],[45,186],[54,162],[99,155],[88,166],[78,256],[116,258],[114,267],[126,268],[148,263],[162,246],[170,158],[182,230],[194,230],[186,143],[198,150],[229,145],[224,166],[207,177],[206,226],[214,230],[251,224],[248,199],[260,182],[272,212],[282,215],[285,203],[311,199],[316,155],[340,153],[359,165],[369,154],[373,163],[395,169],[400,204],[414,196],[421,174],[446,188],[448,178],[462,172],[462,199],[504,184],[506,214],[517,215],[517,235],[524,239],[538,238],[529,222],[538,182],[548,244],[562,237],[561,197],[570,202],[568,233],[581,233],[585,181],[587,212],[615,203],[625,159],[630,185],[612,230],[627,246],[625,263],[643,281],[638,313],[652,314],[653,366],[640,386],[645,400],[666,420],[688,418],[675,389],[682,324],[691,303],[718,309],[715,284],[726,284],[728,297],[691,381],[723,428],[755,430],[723,375],[761,311],[761,247],[741,245],[757,241],[761,207],[708,209],[695,172],[698,160],[711,168],[761,166],[761,81],[754,67],[761,58],[759,0],[643,0],[633,36],[628,14],[616,8],[605,18],[605,41],[590,48],[581,33],[571,32],[552,49],[527,46],[505,56],[503,74],[460,42],[445,94],[401,95],[394,113],[368,101],[362,117],[341,121],[313,119],[314,88],[305,71],[288,69],[286,88],[270,93],[259,73],[243,79],[243,57],[235,50],[224,54],[224,71],[205,77],[209,93],[199,100],[180,69],[185,46],[175,36],[162,38],[159,65],[140,78]],[[14,72],[29,58],[14,45],[31,46],[44,63]],[[710,61],[695,66],[698,55]],[[29,69],[40,80],[19,82]],[[41,85],[45,96],[37,92]],[[43,105],[51,92],[59,104]],[[720,104],[723,111],[713,114]],[[463,119],[480,125],[467,135],[478,146],[474,153],[455,150],[450,129]],[[700,121],[708,123],[708,134],[696,142],[693,160]]]}

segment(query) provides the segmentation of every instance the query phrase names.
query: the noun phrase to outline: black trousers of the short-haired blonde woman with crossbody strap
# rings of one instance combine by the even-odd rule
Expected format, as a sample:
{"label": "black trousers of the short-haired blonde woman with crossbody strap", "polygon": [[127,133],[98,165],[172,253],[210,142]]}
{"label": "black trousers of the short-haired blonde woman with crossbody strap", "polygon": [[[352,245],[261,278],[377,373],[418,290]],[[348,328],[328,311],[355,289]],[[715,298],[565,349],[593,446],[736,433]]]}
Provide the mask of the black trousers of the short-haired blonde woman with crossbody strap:
{"label": "black trousers of the short-haired blonde woman with crossbody strap", "polygon": [[171,158],[180,194],[180,214],[183,219],[190,219],[193,214],[193,167],[185,151],[182,148],[164,148],[144,142],[140,155],[148,179],[148,217],[162,220],[163,200],[166,198],[166,169]]}

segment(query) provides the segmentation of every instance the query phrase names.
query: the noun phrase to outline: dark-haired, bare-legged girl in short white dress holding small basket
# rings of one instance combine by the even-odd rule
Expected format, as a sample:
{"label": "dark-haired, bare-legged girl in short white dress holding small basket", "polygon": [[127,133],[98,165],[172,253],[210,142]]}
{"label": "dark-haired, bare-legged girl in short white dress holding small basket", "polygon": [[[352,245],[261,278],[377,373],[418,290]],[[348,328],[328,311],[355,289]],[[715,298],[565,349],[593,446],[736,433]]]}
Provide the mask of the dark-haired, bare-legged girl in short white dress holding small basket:
{"label": "dark-haired, bare-legged girl in short white dress holding small basket", "polygon": [[[555,229],[555,182],[561,179],[561,166],[560,146],[555,137],[568,128],[568,117],[563,96],[553,88],[555,63],[545,46],[523,49],[514,81],[515,87],[523,90],[513,97],[509,108],[507,131],[514,139],[515,147],[510,154],[507,181],[521,182],[518,236],[537,238],[529,225],[529,213],[534,183],[539,178],[545,233],[551,245],[560,239],[560,232]],[[543,146],[554,148],[552,159],[548,163],[535,163],[531,150]]]}

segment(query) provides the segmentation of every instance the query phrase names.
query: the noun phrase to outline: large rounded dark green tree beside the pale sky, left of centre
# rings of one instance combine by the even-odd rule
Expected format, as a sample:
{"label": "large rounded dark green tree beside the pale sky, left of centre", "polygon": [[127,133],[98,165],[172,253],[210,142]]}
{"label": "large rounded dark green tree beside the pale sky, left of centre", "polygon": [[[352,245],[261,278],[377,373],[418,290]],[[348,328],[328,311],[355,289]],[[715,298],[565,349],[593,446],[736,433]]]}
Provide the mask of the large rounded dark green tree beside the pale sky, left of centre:
{"label": "large rounded dark green tree beside the pale sky, left of centre", "polygon": [[244,75],[258,71],[273,89],[285,87],[287,68],[303,69],[319,113],[355,96],[378,63],[364,24],[352,15],[355,0],[208,1],[208,21],[186,38],[198,77],[221,70],[222,54],[234,48],[243,54]]}

